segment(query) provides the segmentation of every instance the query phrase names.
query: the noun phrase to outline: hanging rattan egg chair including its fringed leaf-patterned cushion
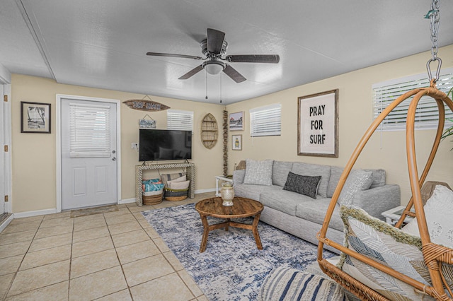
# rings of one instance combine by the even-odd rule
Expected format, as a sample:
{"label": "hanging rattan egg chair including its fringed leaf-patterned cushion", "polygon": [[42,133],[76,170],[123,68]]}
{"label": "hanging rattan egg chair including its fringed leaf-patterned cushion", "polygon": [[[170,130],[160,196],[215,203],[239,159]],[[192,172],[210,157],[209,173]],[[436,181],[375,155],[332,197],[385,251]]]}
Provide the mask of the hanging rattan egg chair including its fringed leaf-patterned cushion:
{"label": "hanging rattan egg chair including its fringed leaf-patterned cushion", "polygon": [[[415,158],[414,120],[415,109],[424,95],[437,102],[439,123],[432,151],[419,177]],[[365,144],[384,118],[403,100],[411,97],[413,99],[406,120],[406,153],[412,197],[396,224],[397,227],[372,218],[359,208],[341,206],[345,223],[345,245],[329,240],[326,232],[333,209],[337,206],[340,192]],[[318,233],[318,263],[324,273],[362,300],[451,300],[453,296],[453,249],[431,241],[420,193],[444,129],[444,104],[453,110],[452,100],[435,88],[434,80],[431,81],[430,88],[411,90],[394,100],[369,126],[340,177]],[[412,206],[415,208],[420,237],[398,229]],[[332,264],[323,258],[323,244],[341,252],[338,264]]]}

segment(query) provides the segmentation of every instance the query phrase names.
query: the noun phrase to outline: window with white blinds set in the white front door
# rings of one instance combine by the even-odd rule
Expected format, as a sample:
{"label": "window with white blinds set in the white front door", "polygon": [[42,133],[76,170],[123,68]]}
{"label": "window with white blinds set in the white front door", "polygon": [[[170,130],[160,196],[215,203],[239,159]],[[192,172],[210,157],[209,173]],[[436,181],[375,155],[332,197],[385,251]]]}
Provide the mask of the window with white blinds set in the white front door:
{"label": "window with white blinds set in the white front door", "polygon": [[69,104],[69,156],[110,156],[110,107]]}

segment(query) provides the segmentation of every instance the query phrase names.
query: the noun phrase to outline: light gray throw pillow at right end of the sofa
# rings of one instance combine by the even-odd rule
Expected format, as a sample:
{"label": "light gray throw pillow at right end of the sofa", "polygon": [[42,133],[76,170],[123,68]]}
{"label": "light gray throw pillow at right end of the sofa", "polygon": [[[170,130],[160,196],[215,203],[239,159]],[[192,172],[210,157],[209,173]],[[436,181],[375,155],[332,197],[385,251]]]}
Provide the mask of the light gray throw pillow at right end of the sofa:
{"label": "light gray throw pillow at right end of the sofa", "polygon": [[349,177],[346,179],[345,185],[341,190],[340,196],[338,197],[338,203],[345,206],[352,205],[354,194],[357,193],[357,191],[369,189],[372,182],[372,172],[367,172],[365,170],[351,170]]}

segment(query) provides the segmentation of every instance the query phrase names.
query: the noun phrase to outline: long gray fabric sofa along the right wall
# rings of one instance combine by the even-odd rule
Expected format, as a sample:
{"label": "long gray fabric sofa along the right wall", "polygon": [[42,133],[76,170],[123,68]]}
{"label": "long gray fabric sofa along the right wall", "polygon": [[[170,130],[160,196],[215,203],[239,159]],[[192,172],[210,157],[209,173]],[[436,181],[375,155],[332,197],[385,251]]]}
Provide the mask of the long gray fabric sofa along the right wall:
{"label": "long gray fabric sofa along the right wall", "polygon": [[[315,187],[316,199],[286,190],[294,190],[291,187],[285,187],[285,184],[288,185],[289,172],[292,172],[292,176],[302,175],[304,179],[321,176],[321,181]],[[321,229],[342,172],[343,168],[329,165],[247,159],[246,169],[234,171],[234,192],[236,196],[263,203],[264,210],[260,220],[264,223],[318,244],[316,233]],[[383,220],[381,215],[383,211],[400,206],[400,188],[396,184],[386,184],[385,176],[384,170],[351,171],[338,199],[337,207],[333,211],[327,232],[329,239],[343,244],[343,222],[339,216],[340,202],[360,207],[381,220]],[[325,247],[331,249],[326,245]]]}

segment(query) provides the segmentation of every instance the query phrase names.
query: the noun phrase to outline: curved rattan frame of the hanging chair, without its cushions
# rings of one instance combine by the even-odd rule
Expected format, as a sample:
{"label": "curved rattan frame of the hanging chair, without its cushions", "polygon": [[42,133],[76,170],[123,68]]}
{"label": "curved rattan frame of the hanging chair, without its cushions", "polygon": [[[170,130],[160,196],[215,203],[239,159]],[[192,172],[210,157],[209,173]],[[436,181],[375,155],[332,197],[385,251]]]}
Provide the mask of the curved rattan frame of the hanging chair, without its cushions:
{"label": "curved rattan frame of the hanging chair, without its cushions", "polygon": [[[415,123],[415,110],[417,107],[420,98],[423,96],[429,96],[434,98],[437,103],[437,108],[439,110],[439,122],[437,124],[437,131],[436,136],[432,144],[432,149],[430,155],[428,157],[427,163],[423,169],[422,174],[420,177],[418,176],[418,169],[417,169],[417,162],[415,158],[415,133],[414,133],[414,123]],[[406,118],[406,155],[407,155],[407,162],[408,162],[408,172],[409,172],[409,180],[411,184],[411,192],[412,197],[406,206],[405,212],[402,214],[400,220],[396,226],[401,227],[401,224],[408,215],[412,206],[415,208],[415,217],[418,220],[418,228],[420,231],[420,239],[422,242],[422,252],[423,252],[423,259],[425,264],[428,266],[428,271],[430,272],[430,278],[432,281],[432,285],[424,285],[418,281],[415,281],[413,278],[403,275],[402,273],[398,273],[393,268],[388,266],[384,266],[383,264],[379,264],[377,261],[370,259],[367,256],[359,254],[347,247],[344,247],[341,244],[333,242],[326,237],[326,232],[328,229],[328,225],[331,221],[333,209],[335,208],[338,197],[340,196],[340,192],[343,189],[346,179],[352,170],[357,158],[359,157],[360,153],[362,152],[363,148],[365,147],[366,143],[371,138],[374,131],[376,131],[379,124],[382,123],[384,118],[395,109],[397,105],[399,105],[404,100],[413,97],[411,100],[411,104],[408,108],[408,114]],[[337,266],[330,264],[326,259],[323,258],[323,244],[327,244],[330,247],[338,249],[340,252],[344,252],[350,256],[353,256],[355,259],[363,261],[365,264],[369,264],[374,268],[383,271],[384,273],[388,273],[395,278],[408,283],[408,285],[413,286],[415,290],[419,290],[431,297],[434,297],[437,300],[451,300],[447,293],[445,293],[445,289],[449,290],[445,279],[442,276],[442,263],[446,264],[453,264],[453,249],[448,247],[441,246],[439,244],[432,243],[430,240],[430,235],[428,232],[428,225],[426,223],[425,218],[425,211],[423,210],[423,199],[420,192],[420,187],[423,186],[425,179],[428,175],[432,162],[435,158],[435,154],[437,153],[437,149],[439,147],[439,143],[441,140],[442,132],[445,125],[445,105],[447,105],[450,110],[453,111],[453,102],[450,100],[445,93],[440,90],[437,90],[435,87],[435,81],[431,81],[431,85],[429,88],[418,88],[411,90],[404,95],[401,95],[399,98],[394,100],[386,109],[379,114],[379,117],[372,122],[369,126],[367,131],[365,132],[364,136],[357,144],[355,150],[353,151],[350,159],[348,160],[348,164],[345,166],[343,170],[343,174],[340,177],[340,181],[336,187],[335,192],[333,193],[331,203],[328,206],[328,210],[326,212],[326,217],[324,218],[323,225],[321,230],[317,234],[317,238],[319,240],[318,244],[318,263],[321,267],[321,270],[326,273],[328,276],[333,278],[333,280],[337,281],[342,285],[344,288],[350,290],[351,293],[357,295],[362,300],[388,300],[383,295],[377,293],[375,290],[367,287],[360,281],[355,278],[352,278],[347,273],[343,272]],[[366,208],[364,208],[366,211]],[[450,295],[452,295],[451,291],[449,291]]]}

